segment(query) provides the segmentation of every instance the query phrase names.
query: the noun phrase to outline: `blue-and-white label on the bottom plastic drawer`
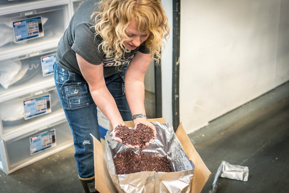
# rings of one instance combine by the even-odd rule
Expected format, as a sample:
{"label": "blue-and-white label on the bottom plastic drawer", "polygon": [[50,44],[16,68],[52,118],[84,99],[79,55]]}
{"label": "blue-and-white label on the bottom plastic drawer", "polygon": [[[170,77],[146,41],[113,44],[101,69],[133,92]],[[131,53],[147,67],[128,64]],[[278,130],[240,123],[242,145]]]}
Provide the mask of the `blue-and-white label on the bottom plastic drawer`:
{"label": "blue-and-white label on the bottom plastic drawer", "polygon": [[34,155],[56,146],[55,129],[30,137],[30,154]]}

